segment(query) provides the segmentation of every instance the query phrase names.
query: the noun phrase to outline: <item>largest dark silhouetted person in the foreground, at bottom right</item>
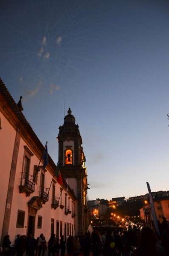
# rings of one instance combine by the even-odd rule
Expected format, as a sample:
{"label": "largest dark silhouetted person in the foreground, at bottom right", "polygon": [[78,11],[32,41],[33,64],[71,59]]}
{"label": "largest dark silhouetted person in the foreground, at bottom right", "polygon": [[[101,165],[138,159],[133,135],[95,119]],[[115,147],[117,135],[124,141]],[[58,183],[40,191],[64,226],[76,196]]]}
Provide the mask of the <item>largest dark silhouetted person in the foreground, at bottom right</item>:
{"label": "largest dark silhouetted person in the foreground, at bottom right", "polygon": [[150,227],[142,228],[135,256],[165,256],[165,250],[157,244],[155,232]]}

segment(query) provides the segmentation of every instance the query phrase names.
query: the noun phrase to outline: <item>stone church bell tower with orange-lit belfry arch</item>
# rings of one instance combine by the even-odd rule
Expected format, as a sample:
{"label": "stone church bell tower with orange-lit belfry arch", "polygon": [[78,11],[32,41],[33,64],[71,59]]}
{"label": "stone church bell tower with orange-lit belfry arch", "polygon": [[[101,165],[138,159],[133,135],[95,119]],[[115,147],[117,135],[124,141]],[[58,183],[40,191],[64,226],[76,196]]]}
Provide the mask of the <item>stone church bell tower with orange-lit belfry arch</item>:
{"label": "stone church bell tower with orange-lit belfry arch", "polygon": [[87,231],[87,172],[85,154],[82,147],[82,137],[79,125],[68,109],[64,124],[59,126],[59,167],[63,178],[68,178],[68,185],[73,189],[77,201],[75,205],[76,234]]}

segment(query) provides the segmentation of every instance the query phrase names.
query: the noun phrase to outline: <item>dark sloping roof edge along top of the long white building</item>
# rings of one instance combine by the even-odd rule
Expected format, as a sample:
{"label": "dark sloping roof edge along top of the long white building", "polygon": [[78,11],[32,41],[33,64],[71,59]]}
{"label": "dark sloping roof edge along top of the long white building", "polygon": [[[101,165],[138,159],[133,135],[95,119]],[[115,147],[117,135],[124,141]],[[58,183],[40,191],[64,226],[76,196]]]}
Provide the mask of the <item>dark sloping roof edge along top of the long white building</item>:
{"label": "dark sloping roof edge along top of the long white building", "polygon": [[[34,143],[36,143],[36,145],[38,146],[39,150],[41,151],[41,154],[43,154],[45,147],[43,146],[43,144],[41,143],[41,141],[35,134],[34,130],[31,128],[31,125],[29,124],[29,122],[27,121],[25,116],[23,115],[22,111],[20,110],[20,107],[14,101],[13,97],[9,93],[6,85],[3,83],[1,78],[0,78],[0,93],[6,99],[6,102],[11,107],[12,111],[15,113],[15,115],[17,116],[19,121],[23,124],[25,129],[28,131],[28,134],[32,137],[32,139],[34,140]],[[48,154],[48,163],[51,165],[53,170],[56,169],[56,164],[54,163],[54,161],[52,160],[52,158],[50,157],[49,154]],[[72,189],[70,189],[70,193],[73,194],[73,198],[76,198]]]}

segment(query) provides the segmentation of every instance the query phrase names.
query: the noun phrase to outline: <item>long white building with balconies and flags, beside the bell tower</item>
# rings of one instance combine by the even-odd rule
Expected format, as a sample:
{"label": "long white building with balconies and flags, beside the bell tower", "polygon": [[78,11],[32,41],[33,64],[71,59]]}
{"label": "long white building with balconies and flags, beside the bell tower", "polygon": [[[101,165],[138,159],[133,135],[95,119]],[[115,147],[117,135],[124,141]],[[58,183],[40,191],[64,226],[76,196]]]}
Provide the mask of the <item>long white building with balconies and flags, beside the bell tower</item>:
{"label": "long white building with balconies and flags, beside the bell tower", "polygon": [[[57,182],[56,165],[0,80],[0,240],[41,233],[48,241],[75,235],[76,196]],[[40,166],[40,167],[38,167]],[[49,188],[51,189],[49,190]],[[76,228],[77,230],[77,228]]]}

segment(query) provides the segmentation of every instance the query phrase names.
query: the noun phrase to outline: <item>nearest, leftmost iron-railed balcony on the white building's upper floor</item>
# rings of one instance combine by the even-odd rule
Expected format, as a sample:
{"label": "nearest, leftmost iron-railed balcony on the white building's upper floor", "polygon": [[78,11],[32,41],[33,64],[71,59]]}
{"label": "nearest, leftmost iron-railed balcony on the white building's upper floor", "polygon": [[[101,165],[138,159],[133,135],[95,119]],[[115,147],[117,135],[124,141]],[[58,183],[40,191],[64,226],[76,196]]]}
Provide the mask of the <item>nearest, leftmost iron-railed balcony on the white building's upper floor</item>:
{"label": "nearest, leftmost iron-railed balcony on the white building's upper floor", "polygon": [[32,175],[22,172],[22,178],[20,179],[19,190],[20,193],[25,192],[26,196],[30,196],[35,191],[35,183]]}

